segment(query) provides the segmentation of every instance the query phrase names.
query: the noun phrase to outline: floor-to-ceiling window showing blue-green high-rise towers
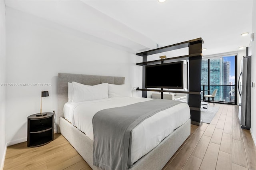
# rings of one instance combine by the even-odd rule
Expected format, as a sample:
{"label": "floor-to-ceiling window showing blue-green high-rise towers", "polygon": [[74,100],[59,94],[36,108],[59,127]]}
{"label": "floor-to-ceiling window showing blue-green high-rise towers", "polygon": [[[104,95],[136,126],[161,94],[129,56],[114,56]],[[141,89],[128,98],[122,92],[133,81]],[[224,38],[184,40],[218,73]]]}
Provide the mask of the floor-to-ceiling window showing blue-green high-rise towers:
{"label": "floor-to-ceiling window showing blue-green high-rise towers", "polygon": [[204,92],[203,95],[211,95],[217,89],[214,98],[217,103],[237,104],[236,61],[237,56],[202,59],[201,90]]}

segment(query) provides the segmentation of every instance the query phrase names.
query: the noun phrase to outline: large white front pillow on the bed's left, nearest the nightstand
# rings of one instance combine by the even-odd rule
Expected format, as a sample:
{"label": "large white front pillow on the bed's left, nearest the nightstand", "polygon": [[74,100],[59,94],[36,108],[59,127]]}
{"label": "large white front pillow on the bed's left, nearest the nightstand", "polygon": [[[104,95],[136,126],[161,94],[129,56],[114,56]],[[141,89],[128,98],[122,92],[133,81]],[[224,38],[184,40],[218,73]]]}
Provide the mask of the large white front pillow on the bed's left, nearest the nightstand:
{"label": "large white front pillow on the bed's left, nearest the nightstand", "polygon": [[108,98],[108,83],[98,85],[83,85],[72,82],[74,87],[73,102],[100,100]]}

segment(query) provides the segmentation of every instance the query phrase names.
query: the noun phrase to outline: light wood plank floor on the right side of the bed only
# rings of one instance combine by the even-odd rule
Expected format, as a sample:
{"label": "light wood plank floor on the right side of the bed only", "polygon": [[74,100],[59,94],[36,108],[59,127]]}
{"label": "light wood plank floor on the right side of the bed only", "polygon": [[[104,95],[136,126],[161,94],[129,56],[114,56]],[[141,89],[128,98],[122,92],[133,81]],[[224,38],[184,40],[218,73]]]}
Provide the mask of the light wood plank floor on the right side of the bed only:
{"label": "light wood plank floor on the right side of the bed only", "polygon": [[191,125],[164,170],[256,170],[256,147],[250,131],[240,128],[237,106],[215,107],[220,109],[210,124]]}

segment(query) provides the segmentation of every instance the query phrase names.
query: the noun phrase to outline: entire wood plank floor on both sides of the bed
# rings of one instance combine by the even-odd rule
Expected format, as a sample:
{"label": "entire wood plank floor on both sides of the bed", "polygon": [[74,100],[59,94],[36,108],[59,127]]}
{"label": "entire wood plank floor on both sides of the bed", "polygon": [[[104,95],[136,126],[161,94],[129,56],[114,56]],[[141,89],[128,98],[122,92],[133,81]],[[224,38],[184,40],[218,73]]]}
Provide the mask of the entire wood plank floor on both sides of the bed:
{"label": "entire wood plank floor on both sides of the bed", "polygon": [[[210,104],[212,105],[212,104]],[[210,124],[191,125],[191,134],[164,170],[256,170],[256,147],[249,130],[240,128],[237,107],[220,105]],[[61,134],[47,145],[8,146],[4,170],[90,170]]]}

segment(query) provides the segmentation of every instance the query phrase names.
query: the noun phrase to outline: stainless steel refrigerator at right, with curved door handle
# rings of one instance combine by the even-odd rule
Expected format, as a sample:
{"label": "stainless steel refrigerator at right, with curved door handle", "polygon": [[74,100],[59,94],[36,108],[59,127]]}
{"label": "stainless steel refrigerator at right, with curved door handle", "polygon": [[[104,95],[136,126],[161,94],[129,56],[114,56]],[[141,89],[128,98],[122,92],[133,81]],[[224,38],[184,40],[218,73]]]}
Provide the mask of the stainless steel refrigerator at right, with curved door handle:
{"label": "stainless steel refrigerator at right, with curved door handle", "polygon": [[251,127],[251,66],[252,57],[243,57],[241,61],[241,73],[238,78],[239,112],[241,128]]}

